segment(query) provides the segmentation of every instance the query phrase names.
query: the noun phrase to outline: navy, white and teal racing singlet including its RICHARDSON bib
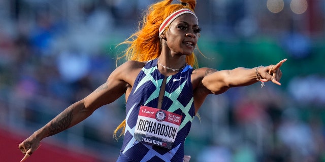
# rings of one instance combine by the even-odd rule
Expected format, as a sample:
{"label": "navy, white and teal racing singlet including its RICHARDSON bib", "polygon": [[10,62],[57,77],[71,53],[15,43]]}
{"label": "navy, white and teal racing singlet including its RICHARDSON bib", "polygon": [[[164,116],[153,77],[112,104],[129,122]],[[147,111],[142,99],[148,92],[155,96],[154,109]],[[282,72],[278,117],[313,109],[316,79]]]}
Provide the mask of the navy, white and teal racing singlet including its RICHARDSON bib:
{"label": "navy, white and teal racing singlet including its RICHARDSON bib", "polygon": [[[158,71],[157,59],[149,61],[142,68],[126,102],[126,128],[120,158],[117,161],[183,161],[184,141],[194,117],[190,80],[192,70],[192,67],[187,65],[177,74],[167,77],[165,95],[159,110],[156,107],[165,76]],[[154,112],[155,117],[145,116],[151,112]],[[169,117],[179,122],[169,123]],[[170,146],[163,147],[166,143],[161,146],[160,141],[154,140],[155,136],[150,135],[151,139],[140,137],[143,140],[135,137],[135,132],[137,134],[137,131],[144,130],[150,130],[151,135],[159,138],[170,139]]]}

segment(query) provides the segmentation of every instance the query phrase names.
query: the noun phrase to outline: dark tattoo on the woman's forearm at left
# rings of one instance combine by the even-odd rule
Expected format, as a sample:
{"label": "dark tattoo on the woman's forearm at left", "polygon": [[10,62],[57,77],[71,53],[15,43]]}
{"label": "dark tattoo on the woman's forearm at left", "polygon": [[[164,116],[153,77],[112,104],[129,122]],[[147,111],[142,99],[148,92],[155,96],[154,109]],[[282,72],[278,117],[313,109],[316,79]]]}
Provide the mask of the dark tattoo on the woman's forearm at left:
{"label": "dark tattoo on the woman's forearm at left", "polygon": [[68,129],[72,121],[72,109],[64,110],[51,121],[51,126],[48,128],[50,132],[48,136],[55,135],[61,131]]}

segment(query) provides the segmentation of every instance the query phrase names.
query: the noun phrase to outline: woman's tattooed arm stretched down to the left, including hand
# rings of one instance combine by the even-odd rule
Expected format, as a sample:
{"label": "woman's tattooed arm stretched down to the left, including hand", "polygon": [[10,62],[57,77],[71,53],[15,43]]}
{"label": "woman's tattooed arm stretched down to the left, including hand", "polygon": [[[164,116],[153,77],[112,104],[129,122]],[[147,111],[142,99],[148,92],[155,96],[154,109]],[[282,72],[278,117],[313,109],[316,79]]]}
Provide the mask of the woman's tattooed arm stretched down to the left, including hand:
{"label": "woman's tattooed arm stretched down to the left, including hand", "polygon": [[93,113],[99,107],[109,104],[123,95],[127,89],[128,83],[125,82],[126,71],[129,64],[123,64],[116,68],[108,77],[107,82],[93,91],[84,99],[72,104],[55,118],[49,121],[41,129],[37,130],[19,144],[19,149],[25,154],[25,160],[40,145],[40,141],[45,137],[55,135],[74,125],[80,123]]}

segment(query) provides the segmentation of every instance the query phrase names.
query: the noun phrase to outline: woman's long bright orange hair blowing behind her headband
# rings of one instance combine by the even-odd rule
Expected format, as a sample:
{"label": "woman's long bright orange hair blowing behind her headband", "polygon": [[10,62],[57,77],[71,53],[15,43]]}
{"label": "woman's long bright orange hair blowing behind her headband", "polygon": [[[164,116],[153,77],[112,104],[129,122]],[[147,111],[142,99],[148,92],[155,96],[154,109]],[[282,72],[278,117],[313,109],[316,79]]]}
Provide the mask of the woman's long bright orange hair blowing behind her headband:
{"label": "woman's long bright orange hair blowing behind her headband", "polygon": [[[173,0],[164,0],[151,5],[148,11],[140,22],[140,27],[137,32],[129,36],[124,42],[119,45],[126,44],[129,47],[125,50],[124,55],[118,59],[125,57],[127,60],[149,61],[159,57],[161,53],[161,45],[159,39],[159,26],[172,13],[181,9],[189,9],[194,12],[196,0],[180,0],[181,3],[186,3],[186,6],[181,4],[172,4]],[[165,30],[166,32],[166,30]],[[186,63],[198,67],[197,57],[192,53],[186,56]],[[117,137],[117,132],[122,129],[121,134]],[[125,119],[115,129],[114,137],[117,139],[123,135],[125,131]]]}

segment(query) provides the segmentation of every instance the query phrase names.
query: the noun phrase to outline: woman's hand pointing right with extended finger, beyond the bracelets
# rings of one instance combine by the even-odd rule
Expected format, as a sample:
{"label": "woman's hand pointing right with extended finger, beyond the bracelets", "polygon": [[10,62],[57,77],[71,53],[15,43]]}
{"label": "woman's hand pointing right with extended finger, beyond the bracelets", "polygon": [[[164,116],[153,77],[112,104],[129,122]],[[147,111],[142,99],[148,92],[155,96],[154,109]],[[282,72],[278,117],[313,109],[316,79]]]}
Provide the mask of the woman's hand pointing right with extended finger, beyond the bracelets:
{"label": "woman's hand pointing right with extended finger, beyond the bracelets", "polygon": [[282,76],[282,71],[280,70],[280,67],[282,64],[286,61],[287,59],[283,59],[280,62],[278,62],[276,65],[269,65],[264,68],[259,68],[261,71],[257,71],[261,76],[262,79],[259,81],[261,82],[273,82],[277,85],[281,85],[279,80],[281,79]]}

